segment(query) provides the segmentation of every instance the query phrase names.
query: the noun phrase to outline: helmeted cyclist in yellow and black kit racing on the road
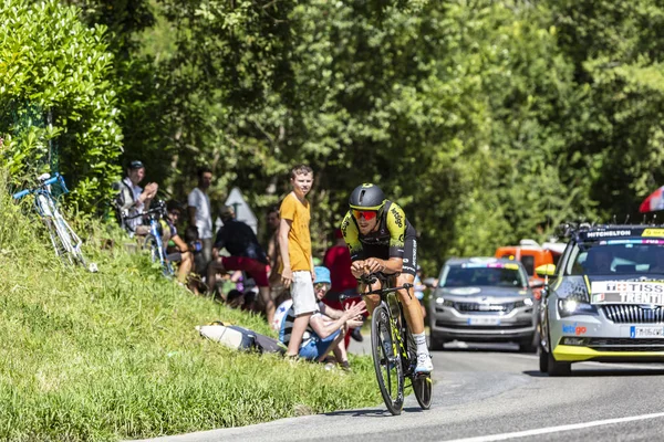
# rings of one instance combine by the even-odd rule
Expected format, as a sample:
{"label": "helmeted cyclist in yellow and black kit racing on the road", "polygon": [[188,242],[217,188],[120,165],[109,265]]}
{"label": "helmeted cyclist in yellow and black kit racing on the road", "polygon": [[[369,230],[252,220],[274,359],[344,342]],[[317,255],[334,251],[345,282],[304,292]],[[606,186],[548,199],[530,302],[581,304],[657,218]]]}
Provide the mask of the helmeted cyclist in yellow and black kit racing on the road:
{"label": "helmeted cyclist in yellow and black kit racing on the road", "polygon": [[[375,185],[364,183],[351,193],[351,210],[341,223],[343,238],[351,251],[351,272],[356,278],[372,273],[395,275],[396,285],[413,284],[417,273],[417,242],[415,228],[411,225],[401,207],[385,199]],[[378,290],[376,282],[371,290]],[[364,287],[364,291],[367,287]],[[413,287],[398,292],[404,306],[406,323],[417,346],[415,372],[428,373],[434,369],[426,347],[424,318]],[[365,296],[369,312],[380,303],[378,295]]]}

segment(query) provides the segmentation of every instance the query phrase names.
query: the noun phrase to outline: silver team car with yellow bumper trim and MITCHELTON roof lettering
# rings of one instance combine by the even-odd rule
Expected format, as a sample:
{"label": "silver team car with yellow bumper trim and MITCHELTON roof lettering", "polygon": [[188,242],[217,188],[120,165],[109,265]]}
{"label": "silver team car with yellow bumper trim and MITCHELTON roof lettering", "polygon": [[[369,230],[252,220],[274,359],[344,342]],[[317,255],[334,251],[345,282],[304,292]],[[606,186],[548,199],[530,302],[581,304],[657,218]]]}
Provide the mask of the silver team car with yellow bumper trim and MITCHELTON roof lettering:
{"label": "silver team car with yellow bumper trim and MITCHELTON roof lettering", "polygon": [[541,308],[540,370],[571,364],[664,361],[664,227],[581,225],[552,276]]}

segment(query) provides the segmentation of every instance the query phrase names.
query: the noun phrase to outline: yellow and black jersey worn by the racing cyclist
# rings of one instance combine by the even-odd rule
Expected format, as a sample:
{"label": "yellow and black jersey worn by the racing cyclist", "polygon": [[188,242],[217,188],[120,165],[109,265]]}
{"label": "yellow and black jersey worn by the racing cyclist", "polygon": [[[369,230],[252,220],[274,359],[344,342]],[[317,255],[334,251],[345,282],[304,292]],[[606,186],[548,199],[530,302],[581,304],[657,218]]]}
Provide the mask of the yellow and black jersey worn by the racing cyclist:
{"label": "yellow and black jersey worn by the racing cyclist", "polygon": [[353,261],[366,260],[367,257],[401,257],[404,260],[404,272],[413,274],[416,269],[415,228],[406,219],[404,210],[392,201],[386,201],[378,211],[376,228],[367,233],[360,233],[357,221],[351,211],[346,213],[341,222],[341,232],[351,251]]}

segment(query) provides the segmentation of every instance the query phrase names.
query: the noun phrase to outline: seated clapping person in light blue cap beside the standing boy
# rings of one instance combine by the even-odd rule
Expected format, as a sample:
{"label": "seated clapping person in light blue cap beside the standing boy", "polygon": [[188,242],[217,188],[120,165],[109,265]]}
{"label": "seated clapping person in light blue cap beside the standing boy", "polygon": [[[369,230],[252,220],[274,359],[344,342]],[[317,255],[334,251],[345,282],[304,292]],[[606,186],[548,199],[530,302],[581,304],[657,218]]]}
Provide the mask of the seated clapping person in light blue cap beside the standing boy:
{"label": "seated clapping person in light blue cap beside the standing boy", "polygon": [[[352,304],[345,312],[324,305],[321,299],[330,290],[330,271],[328,267],[314,267],[314,291],[318,298],[318,311],[311,315],[309,325],[298,356],[302,359],[322,362],[332,351],[339,365],[349,369],[349,358],[343,338],[349,327],[359,327],[362,324],[362,314],[366,312],[364,301]],[[295,312],[292,306],[283,315],[279,330],[279,340],[288,347],[290,341]]]}

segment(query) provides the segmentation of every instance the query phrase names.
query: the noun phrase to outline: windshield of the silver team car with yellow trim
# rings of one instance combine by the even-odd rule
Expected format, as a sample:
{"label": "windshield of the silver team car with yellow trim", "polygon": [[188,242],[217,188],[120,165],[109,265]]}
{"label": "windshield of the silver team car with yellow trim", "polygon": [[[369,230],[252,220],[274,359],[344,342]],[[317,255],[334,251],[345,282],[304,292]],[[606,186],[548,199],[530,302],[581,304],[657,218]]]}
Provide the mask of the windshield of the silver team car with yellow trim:
{"label": "windshield of the silver team car with yellow trim", "polygon": [[583,242],[574,245],[568,275],[664,274],[664,241],[644,239]]}

